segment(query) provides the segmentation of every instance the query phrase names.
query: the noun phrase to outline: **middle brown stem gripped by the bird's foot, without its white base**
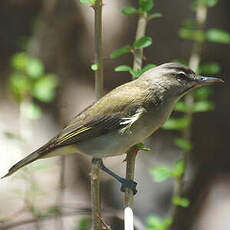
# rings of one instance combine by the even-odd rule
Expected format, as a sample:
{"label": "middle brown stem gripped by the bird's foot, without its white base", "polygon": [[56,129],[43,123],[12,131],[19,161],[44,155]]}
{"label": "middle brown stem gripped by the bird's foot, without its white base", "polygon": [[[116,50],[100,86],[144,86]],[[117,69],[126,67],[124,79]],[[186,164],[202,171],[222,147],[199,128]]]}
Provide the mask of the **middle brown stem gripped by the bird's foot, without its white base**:
{"label": "middle brown stem gripped by the bird's foot, without its white base", "polygon": [[[145,35],[146,26],[147,26],[147,13],[140,14],[138,23],[137,23],[137,31],[136,31],[136,40],[143,37]],[[135,49],[134,50],[134,59],[133,59],[133,69],[134,71],[141,69],[143,60],[143,49]],[[134,179],[134,170],[135,170],[135,160],[137,156],[138,149],[137,147],[132,147],[127,152],[126,158],[126,179],[133,180]],[[133,208],[133,192],[130,189],[126,189],[125,198],[124,198],[125,207]]]}

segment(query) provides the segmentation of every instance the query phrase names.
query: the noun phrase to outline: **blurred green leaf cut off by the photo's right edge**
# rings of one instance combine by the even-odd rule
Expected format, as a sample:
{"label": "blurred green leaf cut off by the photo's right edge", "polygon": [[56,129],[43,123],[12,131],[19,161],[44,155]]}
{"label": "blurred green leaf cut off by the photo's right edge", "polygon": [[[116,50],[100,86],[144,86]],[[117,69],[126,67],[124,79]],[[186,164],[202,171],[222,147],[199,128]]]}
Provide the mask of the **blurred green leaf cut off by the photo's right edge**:
{"label": "blurred green leaf cut off by the photo's right edge", "polygon": [[230,44],[230,33],[220,29],[209,29],[206,33],[207,40],[223,44]]}

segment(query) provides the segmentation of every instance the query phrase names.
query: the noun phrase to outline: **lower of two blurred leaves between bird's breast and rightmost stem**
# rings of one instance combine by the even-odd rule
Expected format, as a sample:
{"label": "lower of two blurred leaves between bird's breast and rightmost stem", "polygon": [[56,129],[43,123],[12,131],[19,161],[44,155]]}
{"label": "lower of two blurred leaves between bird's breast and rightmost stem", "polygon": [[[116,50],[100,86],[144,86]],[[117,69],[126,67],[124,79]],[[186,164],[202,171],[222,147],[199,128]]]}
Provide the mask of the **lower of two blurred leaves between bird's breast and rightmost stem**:
{"label": "lower of two blurred leaves between bird's breast and rightmost stem", "polygon": [[184,118],[170,118],[166,123],[162,126],[163,129],[167,130],[181,130],[188,127],[190,124],[190,119],[187,117]]}

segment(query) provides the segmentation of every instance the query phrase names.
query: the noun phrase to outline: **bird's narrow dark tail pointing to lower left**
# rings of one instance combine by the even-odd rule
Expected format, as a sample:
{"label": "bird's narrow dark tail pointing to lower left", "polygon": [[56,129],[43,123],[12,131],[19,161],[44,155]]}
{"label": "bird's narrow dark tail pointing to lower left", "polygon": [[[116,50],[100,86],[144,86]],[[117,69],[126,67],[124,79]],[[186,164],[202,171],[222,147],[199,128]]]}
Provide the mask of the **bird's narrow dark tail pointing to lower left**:
{"label": "bird's narrow dark tail pointing to lower left", "polygon": [[40,154],[38,151],[35,151],[33,153],[31,153],[30,155],[28,155],[27,157],[23,158],[22,160],[20,160],[18,163],[16,163],[15,165],[13,165],[8,173],[6,175],[4,175],[3,177],[1,177],[1,179],[10,176],[11,174],[15,173],[16,171],[18,171],[20,168],[26,166],[27,164],[37,160],[39,158]]}

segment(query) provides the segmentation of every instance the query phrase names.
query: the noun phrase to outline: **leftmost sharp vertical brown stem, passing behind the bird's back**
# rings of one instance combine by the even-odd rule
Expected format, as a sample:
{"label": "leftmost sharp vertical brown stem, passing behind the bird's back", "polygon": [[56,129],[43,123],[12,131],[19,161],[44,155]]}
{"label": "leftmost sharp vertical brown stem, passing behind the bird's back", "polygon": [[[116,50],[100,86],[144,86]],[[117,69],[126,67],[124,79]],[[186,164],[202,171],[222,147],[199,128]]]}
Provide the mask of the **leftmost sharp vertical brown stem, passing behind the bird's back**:
{"label": "leftmost sharp vertical brown stem, passing behind the bird's back", "polygon": [[[102,57],[102,0],[96,0],[93,5],[95,10],[95,91],[97,100],[103,96],[103,57]],[[91,167],[91,205],[92,205],[92,229],[100,230],[100,169],[92,163]]]}

